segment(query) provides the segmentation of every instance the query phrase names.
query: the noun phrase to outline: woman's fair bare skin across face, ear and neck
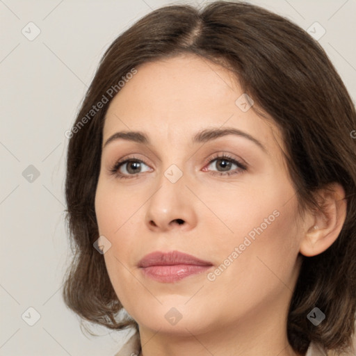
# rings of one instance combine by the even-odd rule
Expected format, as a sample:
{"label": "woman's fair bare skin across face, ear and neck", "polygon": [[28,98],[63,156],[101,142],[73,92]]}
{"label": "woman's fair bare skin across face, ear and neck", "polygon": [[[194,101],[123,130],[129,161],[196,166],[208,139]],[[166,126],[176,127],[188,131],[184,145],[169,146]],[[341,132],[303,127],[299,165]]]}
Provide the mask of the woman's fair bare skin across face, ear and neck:
{"label": "woman's fair bare skin across face, ear and neck", "polygon": [[[332,218],[306,213],[300,219],[280,132],[235,104],[243,91],[232,74],[193,55],[137,69],[108,107],[103,145],[118,131],[144,131],[151,143],[118,139],[104,147],[95,211],[100,235],[111,242],[104,254],[108,275],[140,327],[143,355],[298,355],[286,338],[286,316],[300,252],[321,253],[337,238],[345,218],[342,188],[335,185],[335,195],[325,195]],[[195,133],[208,127],[244,131],[267,152],[234,135],[193,144]],[[247,169],[207,162],[224,153]],[[138,174],[129,163],[120,168],[122,175],[131,172],[129,179],[110,172],[132,155],[143,161]],[[175,183],[165,177],[172,164],[183,173]],[[213,175],[226,170],[237,174]],[[273,222],[231,258],[273,211]],[[140,259],[170,250],[213,266],[175,283],[143,275]],[[229,266],[209,280],[207,273],[229,256]],[[175,325],[165,318],[172,307],[181,314]]]}

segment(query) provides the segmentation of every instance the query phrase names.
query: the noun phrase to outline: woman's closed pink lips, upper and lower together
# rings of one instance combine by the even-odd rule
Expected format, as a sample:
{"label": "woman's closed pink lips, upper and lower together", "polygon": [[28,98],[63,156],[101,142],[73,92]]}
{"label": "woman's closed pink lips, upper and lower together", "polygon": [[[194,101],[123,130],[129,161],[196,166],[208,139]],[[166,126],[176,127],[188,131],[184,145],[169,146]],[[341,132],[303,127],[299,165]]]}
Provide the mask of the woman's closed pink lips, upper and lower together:
{"label": "woman's closed pink lips, upper and lower together", "polygon": [[152,252],[138,263],[144,275],[159,282],[172,283],[211,268],[210,261],[179,251]]}

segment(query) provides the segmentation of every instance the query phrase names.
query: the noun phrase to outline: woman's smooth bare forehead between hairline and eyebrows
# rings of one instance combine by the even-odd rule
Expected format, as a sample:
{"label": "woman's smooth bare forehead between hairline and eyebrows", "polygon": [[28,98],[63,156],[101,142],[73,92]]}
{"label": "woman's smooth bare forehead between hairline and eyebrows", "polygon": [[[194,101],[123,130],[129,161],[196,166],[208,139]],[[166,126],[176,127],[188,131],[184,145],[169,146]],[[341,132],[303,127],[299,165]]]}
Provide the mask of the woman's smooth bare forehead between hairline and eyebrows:
{"label": "woman's smooth bare forehead between hairline and eyebrows", "polygon": [[274,136],[280,140],[273,123],[245,111],[245,93],[220,65],[188,54],[136,69],[108,107],[104,140],[116,131],[139,130],[156,142],[180,144],[201,129],[224,125],[257,136],[266,147],[273,146]]}

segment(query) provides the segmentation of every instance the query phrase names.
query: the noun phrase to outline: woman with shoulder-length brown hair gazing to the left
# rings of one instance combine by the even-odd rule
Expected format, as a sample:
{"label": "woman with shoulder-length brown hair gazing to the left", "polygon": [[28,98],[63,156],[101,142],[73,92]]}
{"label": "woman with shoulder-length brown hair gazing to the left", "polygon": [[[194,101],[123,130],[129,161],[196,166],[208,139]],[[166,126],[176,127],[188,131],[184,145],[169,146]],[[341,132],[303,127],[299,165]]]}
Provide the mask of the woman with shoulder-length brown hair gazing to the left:
{"label": "woman with shoulder-length brown hair gazing to the left", "polygon": [[69,135],[65,302],[136,330],[117,355],[353,352],[355,127],[287,19],[154,10],[108,48]]}

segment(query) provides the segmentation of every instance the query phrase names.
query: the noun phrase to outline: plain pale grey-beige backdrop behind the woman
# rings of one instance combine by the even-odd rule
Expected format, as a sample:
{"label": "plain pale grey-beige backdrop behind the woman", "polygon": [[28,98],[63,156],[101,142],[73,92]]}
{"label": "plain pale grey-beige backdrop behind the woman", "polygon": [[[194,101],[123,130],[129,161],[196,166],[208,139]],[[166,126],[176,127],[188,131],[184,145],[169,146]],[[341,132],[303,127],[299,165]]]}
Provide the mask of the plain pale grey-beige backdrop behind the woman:
{"label": "plain pale grey-beige backdrop behind the woman", "polygon": [[[83,334],[61,298],[70,261],[65,131],[115,37],[152,9],[199,2],[0,0],[1,356],[113,355],[127,337],[103,327],[101,337]],[[318,41],[355,101],[356,0],[250,3],[305,30],[318,22]]]}

